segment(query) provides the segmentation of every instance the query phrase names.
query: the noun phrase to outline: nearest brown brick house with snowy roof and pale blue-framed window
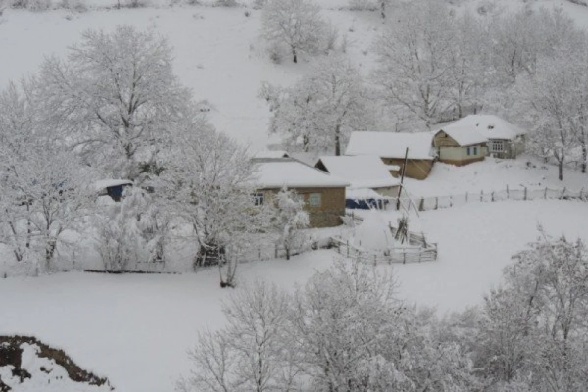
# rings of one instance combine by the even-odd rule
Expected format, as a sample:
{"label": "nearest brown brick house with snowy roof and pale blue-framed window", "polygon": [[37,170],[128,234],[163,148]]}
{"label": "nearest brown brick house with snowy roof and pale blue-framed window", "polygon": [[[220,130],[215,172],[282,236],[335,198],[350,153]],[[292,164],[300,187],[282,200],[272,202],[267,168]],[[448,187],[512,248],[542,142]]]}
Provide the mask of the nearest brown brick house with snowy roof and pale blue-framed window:
{"label": "nearest brown brick house with snowy roof and pale blue-framed window", "polygon": [[345,188],[350,184],[292,158],[253,159],[255,203],[263,204],[286,186],[305,200],[310,227],[333,227],[345,216]]}

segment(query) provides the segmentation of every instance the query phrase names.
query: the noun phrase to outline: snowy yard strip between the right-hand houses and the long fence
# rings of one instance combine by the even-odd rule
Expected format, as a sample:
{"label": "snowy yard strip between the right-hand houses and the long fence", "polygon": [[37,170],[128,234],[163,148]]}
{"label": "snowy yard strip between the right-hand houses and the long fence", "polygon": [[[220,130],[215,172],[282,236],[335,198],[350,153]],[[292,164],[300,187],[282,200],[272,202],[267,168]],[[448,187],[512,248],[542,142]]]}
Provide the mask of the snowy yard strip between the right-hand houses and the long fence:
{"label": "snowy yard strip between the right-hand houses and the long fence", "polygon": [[[529,162],[529,165],[527,165]],[[562,189],[567,187],[575,192],[588,190],[588,174],[579,170],[565,170],[563,181],[557,177],[557,167],[538,162],[527,156],[517,159],[486,158],[466,166],[453,166],[435,163],[426,180],[406,178],[406,189],[413,197],[464,195],[465,192]]]}

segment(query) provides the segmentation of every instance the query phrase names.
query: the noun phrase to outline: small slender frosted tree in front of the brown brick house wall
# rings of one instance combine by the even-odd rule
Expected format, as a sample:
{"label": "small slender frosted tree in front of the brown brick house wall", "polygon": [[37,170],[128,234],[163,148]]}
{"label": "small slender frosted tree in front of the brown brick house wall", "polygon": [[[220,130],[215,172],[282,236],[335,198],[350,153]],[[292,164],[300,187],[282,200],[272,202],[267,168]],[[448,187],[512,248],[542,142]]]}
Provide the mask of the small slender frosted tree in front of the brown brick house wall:
{"label": "small slender frosted tree in front of the brown brick house wall", "polygon": [[276,199],[275,227],[279,234],[278,244],[286,250],[286,260],[290,260],[290,252],[303,242],[299,230],[308,227],[310,220],[304,209],[304,199],[295,191],[283,187]]}

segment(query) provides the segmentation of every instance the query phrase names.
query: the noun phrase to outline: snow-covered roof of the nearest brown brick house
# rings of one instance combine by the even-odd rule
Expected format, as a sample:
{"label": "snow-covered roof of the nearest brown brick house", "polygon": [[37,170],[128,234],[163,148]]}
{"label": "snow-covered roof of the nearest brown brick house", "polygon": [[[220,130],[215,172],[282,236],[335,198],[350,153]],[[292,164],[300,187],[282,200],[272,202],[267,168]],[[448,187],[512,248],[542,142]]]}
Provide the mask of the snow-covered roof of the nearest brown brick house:
{"label": "snow-covered roof of the nearest brown brick house", "polygon": [[259,189],[347,187],[349,182],[291,158],[253,159]]}

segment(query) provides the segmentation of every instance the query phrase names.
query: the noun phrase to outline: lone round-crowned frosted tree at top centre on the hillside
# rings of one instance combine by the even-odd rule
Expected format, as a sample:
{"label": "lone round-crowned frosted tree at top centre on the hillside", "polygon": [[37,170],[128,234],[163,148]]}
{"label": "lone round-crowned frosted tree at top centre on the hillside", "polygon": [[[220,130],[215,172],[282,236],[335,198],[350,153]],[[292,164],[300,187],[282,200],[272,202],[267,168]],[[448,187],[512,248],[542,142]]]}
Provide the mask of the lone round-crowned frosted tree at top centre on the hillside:
{"label": "lone round-crowned frosted tree at top centre on the hillside", "polygon": [[313,0],[268,0],[263,6],[261,35],[270,45],[283,45],[298,62],[300,53],[320,51],[329,30]]}

